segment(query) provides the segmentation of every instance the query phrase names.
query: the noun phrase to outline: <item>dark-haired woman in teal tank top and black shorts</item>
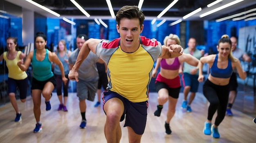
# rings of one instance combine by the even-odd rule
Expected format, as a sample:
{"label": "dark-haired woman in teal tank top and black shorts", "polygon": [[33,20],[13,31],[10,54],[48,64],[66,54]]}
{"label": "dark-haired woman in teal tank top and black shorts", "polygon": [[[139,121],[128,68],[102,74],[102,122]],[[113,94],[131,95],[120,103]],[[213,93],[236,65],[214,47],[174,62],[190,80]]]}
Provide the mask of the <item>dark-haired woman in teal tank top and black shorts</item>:
{"label": "dark-haired woman in teal tank top and black shorts", "polygon": [[43,32],[36,33],[35,43],[36,50],[29,52],[25,63],[22,64],[22,61],[20,61],[18,62],[18,66],[21,70],[26,71],[30,63],[32,63],[33,78],[31,91],[36,118],[34,132],[40,132],[42,130],[42,124],[40,122],[41,94],[45,98],[46,111],[48,111],[51,109],[50,98],[52,97],[52,91],[56,87],[56,80],[52,73],[52,62],[60,67],[64,84],[67,83],[67,78],[65,78],[63,64],[58,59],[58,56],[45,48],[47,41]]}

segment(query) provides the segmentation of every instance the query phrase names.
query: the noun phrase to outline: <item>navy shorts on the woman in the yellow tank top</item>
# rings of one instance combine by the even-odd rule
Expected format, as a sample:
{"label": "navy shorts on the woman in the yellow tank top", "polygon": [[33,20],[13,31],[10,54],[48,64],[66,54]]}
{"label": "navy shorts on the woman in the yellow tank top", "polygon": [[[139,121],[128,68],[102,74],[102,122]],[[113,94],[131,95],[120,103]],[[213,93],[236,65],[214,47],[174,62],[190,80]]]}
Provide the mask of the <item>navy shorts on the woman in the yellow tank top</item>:
{"label": "navy shorts on the woman in the yellow tank top", "polygon": [[27,86],[28,86],[28,78],[24,80],[15,80],[13,78],[8,78],[8,92],[16,93],[17,87],[20,90],[20,99],[27,98]]}

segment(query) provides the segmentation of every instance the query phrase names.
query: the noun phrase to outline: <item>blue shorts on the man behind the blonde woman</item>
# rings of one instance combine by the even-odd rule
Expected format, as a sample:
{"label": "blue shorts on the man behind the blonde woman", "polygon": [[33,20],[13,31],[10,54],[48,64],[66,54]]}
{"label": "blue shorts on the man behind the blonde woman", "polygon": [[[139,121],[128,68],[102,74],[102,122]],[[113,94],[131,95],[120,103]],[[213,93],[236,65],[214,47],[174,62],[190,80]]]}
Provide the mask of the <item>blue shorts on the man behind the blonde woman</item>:
{"label": "blue shorts on the man behind the blonde woman", "polygon": [[183,87],[190,86],[190,92],[198,92],[198,75],[184,73],[182,76]]}

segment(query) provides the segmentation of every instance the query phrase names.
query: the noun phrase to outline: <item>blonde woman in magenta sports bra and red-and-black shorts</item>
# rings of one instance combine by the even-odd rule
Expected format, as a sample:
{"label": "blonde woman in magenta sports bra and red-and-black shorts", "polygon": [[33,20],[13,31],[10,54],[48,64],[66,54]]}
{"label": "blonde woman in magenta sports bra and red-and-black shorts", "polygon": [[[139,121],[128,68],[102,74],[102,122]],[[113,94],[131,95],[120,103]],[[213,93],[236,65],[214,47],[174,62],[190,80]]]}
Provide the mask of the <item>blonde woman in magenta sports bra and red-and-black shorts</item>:
{"label": "blonde woman in magenta sports bra and red-and-black shorts", "polygon": [[[175,34],[170,34],[164,38],[164,45],[169,47],[172,44],[180,45],[180,38]],[[160,65],[160,72],[157,75],[155,87],[158,92],[158,105],[154,115],[159,117],[163,105],[168,101],[167,119],[165,121],[165,133],[171,134],[170,121],[175,114],[175,106],[180,93],[180,64],[186,62],[190,65],[197,66],[199,60],[191,54],[182,54],[176,58],[157,58],[155,69],[153,70],[152,77],[157,75],[157,69]]]}

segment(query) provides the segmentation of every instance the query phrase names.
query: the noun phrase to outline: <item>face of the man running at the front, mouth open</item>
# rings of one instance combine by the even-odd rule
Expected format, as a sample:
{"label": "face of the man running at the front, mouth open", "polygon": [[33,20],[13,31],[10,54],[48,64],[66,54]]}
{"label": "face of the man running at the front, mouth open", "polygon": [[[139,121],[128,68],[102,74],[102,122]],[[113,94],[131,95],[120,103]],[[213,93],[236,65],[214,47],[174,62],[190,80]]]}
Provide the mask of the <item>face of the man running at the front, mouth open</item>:
{"label": "face of the man running at the front, mouth open", "polygon": [[117,32],[119,32],[121,37],[121,45],[124,46],[124,48],[135,48],[139,42],[139,35],[143,27],[144,25],[140,27],[139,19],[137,18],[122,18],[119,26],[117,25]]}

